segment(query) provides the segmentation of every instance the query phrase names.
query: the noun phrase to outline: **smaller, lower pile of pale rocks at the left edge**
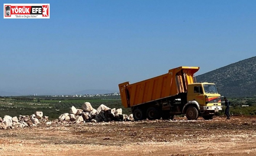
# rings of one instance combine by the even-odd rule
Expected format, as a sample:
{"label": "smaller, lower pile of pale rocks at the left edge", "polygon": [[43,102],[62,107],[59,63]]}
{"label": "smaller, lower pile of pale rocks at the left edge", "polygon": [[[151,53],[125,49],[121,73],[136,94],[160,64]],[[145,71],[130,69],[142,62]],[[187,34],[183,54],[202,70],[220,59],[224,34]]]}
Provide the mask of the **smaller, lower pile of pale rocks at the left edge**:
{"label": "smaller, lower pile of pale rocks at the left edge", "polygon": [[4,118],[0,118],[0,129],[6,128],[15,128],[15,127],[27,127],[27,126],[37,126],[41,122],[47,122],[48,117],[43,116],[42,111],[36,111],[35,114],[32,115],[20,115],[17,117],[10,117],[9,115],[5,115]]}

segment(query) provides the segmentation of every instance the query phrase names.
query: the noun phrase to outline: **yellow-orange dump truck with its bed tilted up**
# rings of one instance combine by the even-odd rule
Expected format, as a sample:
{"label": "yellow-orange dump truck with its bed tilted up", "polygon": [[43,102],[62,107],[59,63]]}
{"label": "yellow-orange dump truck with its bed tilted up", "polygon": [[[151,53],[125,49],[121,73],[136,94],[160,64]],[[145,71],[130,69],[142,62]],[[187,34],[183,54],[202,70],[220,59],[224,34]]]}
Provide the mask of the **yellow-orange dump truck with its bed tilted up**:
{"label": "yellow-orange dump truck with its bed tilted up", "polygon": [[199,116],[212,119],[222,110],[220,94],[214,83],[194,83],[199,67],[178,67],[168,73],[130,84],[119,84],[122,105],[132,108],[135,121],[148,118],[173,119],[186,114],[188,120]]}

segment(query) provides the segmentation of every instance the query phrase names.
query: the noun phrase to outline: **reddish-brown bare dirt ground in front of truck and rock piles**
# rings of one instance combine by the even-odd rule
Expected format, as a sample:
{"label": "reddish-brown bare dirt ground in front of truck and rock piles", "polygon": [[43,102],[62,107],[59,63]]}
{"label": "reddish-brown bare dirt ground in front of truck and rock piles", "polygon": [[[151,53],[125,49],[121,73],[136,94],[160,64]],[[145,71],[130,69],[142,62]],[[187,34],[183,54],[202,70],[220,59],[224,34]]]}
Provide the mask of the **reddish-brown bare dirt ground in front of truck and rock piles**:
{"label": "reddish-brown bare dirt ground in front of truck and rock piles", "polygon": [[256,117],[0,130],[1,156],[255,156]]}

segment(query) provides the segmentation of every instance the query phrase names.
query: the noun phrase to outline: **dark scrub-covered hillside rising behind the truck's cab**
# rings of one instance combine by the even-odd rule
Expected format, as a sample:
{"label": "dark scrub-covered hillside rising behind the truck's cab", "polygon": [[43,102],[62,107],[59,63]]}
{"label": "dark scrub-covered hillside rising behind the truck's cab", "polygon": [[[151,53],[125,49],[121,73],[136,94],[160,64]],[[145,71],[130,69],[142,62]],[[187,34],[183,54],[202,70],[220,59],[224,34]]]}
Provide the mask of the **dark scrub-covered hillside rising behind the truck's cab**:
{"label": "dark scrub-covered hillside rising behind the truck's cab", "polygon": [[196,76],[197,82],[214,82],[223,96],[256,95],[256,56]]}

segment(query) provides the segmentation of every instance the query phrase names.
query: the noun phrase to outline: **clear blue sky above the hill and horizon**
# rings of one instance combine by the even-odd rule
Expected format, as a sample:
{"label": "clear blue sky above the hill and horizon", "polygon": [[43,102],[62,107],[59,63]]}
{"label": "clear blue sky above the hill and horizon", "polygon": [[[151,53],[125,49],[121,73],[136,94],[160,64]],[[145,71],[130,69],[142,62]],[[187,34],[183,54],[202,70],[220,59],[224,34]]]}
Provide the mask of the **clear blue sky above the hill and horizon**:
{"label": "clear blue sky above the hill and horizon", "polygon": [[118,91],[179,66],[198,66],[200,75],[256,56],[256,1],[44,3],[50,19],[0,18],[2,92]]}

